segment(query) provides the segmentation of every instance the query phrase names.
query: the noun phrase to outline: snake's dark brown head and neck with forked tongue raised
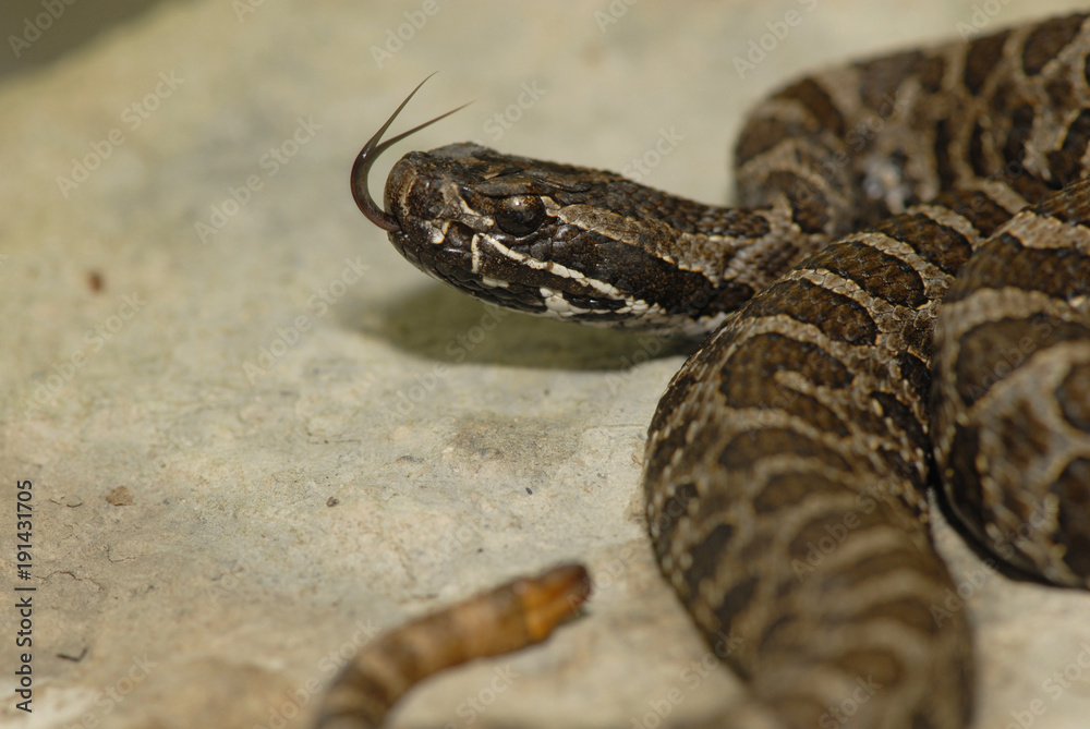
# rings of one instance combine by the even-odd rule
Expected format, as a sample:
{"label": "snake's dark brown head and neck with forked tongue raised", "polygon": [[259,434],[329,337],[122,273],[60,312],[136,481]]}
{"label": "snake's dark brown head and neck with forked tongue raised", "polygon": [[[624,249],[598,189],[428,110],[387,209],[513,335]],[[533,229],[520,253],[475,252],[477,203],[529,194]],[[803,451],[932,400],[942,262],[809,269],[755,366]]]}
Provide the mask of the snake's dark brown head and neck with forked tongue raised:
{"label": "snake's dark brown head and neck with forked tongue raised", "polygon": [[447,116],[380,142],[410,98],[361,150],[351,183],[361,211],[423,271],[507,308],[691,336],[714,329],[752,295],[731,265],[746,263],[736,255],[742,247],[768,236],[765,217],[611,172],[452,144],[402,157],[383,209],[367,187],[374,160]]}

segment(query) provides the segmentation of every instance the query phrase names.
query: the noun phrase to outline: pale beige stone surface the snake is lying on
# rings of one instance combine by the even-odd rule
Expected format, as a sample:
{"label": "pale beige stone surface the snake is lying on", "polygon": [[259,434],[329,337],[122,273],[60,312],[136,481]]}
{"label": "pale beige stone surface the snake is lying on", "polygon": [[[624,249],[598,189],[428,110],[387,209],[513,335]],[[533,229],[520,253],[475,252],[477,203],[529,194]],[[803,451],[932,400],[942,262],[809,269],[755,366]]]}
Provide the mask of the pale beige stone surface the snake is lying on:
{"label": "pale beige stone surface the snake is lying on", "polygon": [[[195,1],[9,82],[0,472],[9,515],[34,483],[37,592],[31,717],[0,611],[0,722],[303,726],[374,630],[569,559],[595,574],[585,619],[434,681],[397,725],[653,726],[728,701],[734,679],[691,670],[706,648],[642,520],[680,356],[440,288],[355,210],[353,155],[440,70],[395,129],[476,102],[400,151],[475,138],[725,199],[740,114],[777,83],[1078,3],[1027,4]],[[680,139],[635,169],[662,135]],[[979,726],[1085,726],[1087,596],[941,542],[980,627]]]}

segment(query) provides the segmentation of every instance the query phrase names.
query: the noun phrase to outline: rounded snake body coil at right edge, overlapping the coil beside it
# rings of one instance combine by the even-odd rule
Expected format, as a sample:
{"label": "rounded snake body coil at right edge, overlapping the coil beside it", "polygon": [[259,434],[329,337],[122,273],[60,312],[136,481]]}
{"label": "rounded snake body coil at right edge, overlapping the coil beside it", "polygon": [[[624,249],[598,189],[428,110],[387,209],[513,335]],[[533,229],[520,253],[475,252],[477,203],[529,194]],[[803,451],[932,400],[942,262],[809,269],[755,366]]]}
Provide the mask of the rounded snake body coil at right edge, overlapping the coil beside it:
{"label": "rounded snake body coil at right edge, overlapping the coil beside it", "polygon": [[1090,585],[1090,193],[1018,214],[946,296],[933,434],[947,499],[1008,562]]}

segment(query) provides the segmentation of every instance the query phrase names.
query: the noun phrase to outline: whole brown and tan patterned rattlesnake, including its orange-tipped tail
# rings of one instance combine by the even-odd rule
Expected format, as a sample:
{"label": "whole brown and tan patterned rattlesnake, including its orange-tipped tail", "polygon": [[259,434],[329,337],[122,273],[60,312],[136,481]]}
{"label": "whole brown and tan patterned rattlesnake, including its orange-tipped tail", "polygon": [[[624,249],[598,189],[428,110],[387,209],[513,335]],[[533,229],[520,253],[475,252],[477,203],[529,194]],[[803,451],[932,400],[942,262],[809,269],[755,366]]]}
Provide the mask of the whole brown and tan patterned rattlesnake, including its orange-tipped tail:
{"label": "whole brown and tan patterned rattlesnake, including its orange-tipped tail", "polygon": [[[361,210],[462,291],[712,332],[644,465],[664,575],[710,644],[739,639],[720,657],[747,698],[708,726],[971,724],[933,482],[1006,563],[1090,582],[1087,19],[784,87],[737,142],[737,208],[456,144],[397,162],[384,209],[367,171],[404,135],[380,143],[388,121],[356,159]],[[322,726],[382,721],[413,681],[541,640],[586,591],[565,567],[396,631],[348,666]],[[497,621],[514,637],[483,645]]]}

